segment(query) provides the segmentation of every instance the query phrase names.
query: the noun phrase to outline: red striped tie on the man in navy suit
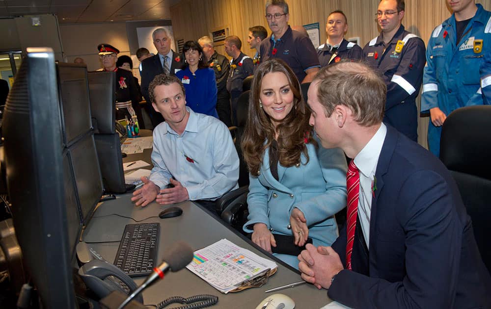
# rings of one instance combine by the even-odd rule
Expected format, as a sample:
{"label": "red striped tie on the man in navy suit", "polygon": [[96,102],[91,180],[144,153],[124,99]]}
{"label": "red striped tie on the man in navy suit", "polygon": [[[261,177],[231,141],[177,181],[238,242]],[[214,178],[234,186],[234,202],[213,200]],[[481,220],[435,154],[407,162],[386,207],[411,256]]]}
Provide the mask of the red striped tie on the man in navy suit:
{"label": "red striped tie on the man in navy suit", "polygon": [[358,214],[358,197],[360,195],[360,175],[351,160],[346,173],[346,189],[348,191],[348,220],[346,225],[346,268],[351,270],[351,253],[353,252],[353,241],[355,239],[356,217]]}

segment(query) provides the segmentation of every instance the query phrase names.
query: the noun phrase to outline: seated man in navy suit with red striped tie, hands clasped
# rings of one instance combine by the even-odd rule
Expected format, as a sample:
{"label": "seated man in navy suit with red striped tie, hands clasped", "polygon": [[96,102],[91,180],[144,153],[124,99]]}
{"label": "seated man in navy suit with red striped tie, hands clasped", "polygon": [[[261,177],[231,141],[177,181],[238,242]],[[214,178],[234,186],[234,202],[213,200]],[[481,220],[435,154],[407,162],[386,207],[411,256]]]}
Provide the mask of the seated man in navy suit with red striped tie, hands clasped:
{"label": "seated man in navy suit with red striped tie, hands clasped", "polygon": [[491,279],[459,190],[430,152],[382,123],[386,86],[362,63],[323,68],[308,91],[324,147],[354,158],[348,220],[307,245],[302,278],[353,308],[490,308]]}

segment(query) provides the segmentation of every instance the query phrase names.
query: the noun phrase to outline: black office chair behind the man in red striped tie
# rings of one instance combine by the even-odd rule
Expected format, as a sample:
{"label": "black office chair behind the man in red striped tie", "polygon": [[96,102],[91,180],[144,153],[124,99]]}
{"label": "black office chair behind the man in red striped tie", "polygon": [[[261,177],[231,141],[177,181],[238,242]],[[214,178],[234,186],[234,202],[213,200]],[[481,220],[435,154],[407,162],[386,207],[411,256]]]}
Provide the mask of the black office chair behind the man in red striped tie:
{"label": "black office chair behind the man in red striped tie", "polygon": [[472,219],[481,257],[491,272],[490,119],[490,105],[468,106],[453,111],[443,123],[440,159],[459,186],[465,208]]}

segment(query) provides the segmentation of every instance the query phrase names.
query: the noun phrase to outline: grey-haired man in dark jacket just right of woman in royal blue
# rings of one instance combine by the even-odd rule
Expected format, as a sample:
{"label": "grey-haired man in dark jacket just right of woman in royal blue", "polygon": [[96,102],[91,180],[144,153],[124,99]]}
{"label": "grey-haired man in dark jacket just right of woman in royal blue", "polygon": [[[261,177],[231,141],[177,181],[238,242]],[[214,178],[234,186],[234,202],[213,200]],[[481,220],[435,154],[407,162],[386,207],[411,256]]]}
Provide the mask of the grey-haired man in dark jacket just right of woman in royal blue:
{"label": "grey-haired man in dark jacket just right of woman in royal blue", "polygon": [[198,40],[198,44],[203,49],[206,61],[210,68],[215,71],[215,79],[217,80],[217,113],[218,118],[227,127],[232,126],[232,112],[230,109],[230,94],[227,91],[227,77],[230,71],[228,59],[215,51],[213,41],[208,36],[203,36]]}

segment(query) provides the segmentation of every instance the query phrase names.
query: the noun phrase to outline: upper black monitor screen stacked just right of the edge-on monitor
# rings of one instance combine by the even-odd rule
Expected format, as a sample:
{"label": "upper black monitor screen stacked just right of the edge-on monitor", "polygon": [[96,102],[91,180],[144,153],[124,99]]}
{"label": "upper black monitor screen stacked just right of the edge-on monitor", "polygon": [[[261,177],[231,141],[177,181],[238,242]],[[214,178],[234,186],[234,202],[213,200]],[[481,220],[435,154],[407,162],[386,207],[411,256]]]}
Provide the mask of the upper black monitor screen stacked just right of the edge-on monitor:
{"label": "upper black monitor screen stacked just right of the edge-on monitor", "polygon": [[58,63],[58,91],[62,110],[65,144],[92,129],[87,86],[87,68],[72,63]]}

